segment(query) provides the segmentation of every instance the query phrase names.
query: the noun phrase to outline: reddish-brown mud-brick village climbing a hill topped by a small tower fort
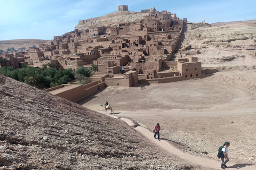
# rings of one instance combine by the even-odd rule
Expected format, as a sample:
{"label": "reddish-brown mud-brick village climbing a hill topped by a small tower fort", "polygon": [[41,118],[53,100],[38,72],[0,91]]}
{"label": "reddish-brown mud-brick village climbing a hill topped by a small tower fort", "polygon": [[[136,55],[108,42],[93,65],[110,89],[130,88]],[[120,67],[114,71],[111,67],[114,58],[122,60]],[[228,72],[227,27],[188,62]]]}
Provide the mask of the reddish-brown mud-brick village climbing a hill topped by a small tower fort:
{"label": "reddish-brown mud-brick village climbing a hill topped by a small tower fort", "polygon": [[75,72],[81,66],[98,65],[92,80],[105,82],[106,86],[132,87],[200,78],[201,62],[192,56],[198,51],[180,53],[179,58],[173,55],[186,23],[187,19],[159,12],[155,7],[131,12],[127,5],[121,5],[118,12],[81,20],[74,31],[54,36],[27,53],[1,57],[8,58],[13,67],[55,63]]}

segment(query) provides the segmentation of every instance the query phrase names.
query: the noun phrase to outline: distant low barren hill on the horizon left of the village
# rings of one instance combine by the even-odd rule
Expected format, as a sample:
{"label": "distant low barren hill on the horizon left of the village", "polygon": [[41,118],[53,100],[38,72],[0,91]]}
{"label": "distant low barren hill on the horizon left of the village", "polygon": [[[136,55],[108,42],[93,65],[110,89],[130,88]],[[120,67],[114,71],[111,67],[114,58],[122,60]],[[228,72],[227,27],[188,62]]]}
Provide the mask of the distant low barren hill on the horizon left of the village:
{"label": "distant low barren hill on the horizon left of the village", "polygon": [[14,49],[18,50],[20,47],[25,47],[28,49],[29,47],[36,46],[39,44],[44,44],[49,40],[42,39],[15,39],[15,40],[5,40],[0,41],[0,49],[7,50],[7,48],[14,47]]}

